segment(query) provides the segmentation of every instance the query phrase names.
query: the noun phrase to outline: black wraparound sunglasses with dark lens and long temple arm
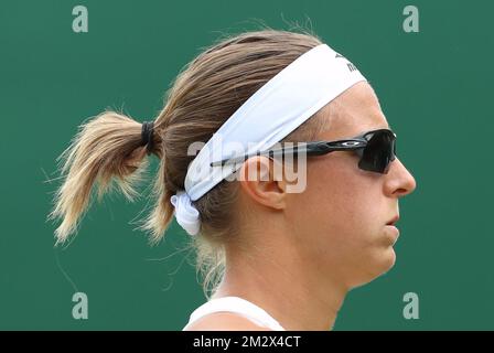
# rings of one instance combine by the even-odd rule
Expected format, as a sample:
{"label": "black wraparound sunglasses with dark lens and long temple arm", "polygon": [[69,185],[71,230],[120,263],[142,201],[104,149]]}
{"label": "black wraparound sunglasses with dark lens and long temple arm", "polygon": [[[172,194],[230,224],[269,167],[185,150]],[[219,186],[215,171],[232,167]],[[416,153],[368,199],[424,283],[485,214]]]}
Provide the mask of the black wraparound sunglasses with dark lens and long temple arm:
{"label": "black wraparound sunglasses with dark lens and long temple arm", "polygon": [[281,147],[253,154],[224,159],[212,162],[211,167],[236,164],[255,156],[296,156],[299,152],[304,152],[307,156],[322,156],[333,151],[354,151],[361,158],[358,161],[359,169],[386,174],[389,170],[389,164],[396,158],[396,135],[389,129],[367,131],[363,135],[337,141],[299,143],[302,143],[302,146]]}

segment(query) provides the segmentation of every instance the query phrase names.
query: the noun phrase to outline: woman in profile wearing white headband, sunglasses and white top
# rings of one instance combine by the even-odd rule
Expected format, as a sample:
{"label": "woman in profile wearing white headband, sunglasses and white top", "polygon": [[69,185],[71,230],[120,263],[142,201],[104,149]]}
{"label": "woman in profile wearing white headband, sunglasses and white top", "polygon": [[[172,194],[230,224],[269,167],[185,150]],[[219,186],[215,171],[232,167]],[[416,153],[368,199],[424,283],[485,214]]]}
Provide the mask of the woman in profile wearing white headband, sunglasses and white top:
{"label": "woman in profile wearing white headband, sunglasses and white top", "polygon": [[175,215],[212,288],[184,330],[331,329],[346,293],[393,267],[398,199],[416,188],[370,85],[315,35],[267,29],[205,50],[167,98],[153,121],[105,111],[83,125],[62,154],[57,242],[96,182],[132,199],[154,154],[142,228],[158,242]]}

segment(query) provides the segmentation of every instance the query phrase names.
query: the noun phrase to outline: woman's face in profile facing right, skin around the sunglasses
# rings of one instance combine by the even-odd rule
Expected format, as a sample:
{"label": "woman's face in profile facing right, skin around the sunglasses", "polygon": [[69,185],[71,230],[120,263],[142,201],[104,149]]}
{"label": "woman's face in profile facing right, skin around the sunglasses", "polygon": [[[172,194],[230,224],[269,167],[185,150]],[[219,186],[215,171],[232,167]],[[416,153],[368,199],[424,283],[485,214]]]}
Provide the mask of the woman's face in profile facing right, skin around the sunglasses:
{"label": "woman's face in profile facing right, skin around the sunglasses", "polygon": [[[367,83],[354,85],[333,100],[327,118],[327,131],[314,140],[389,128]],[[314,265],[313,270],[348,289],[370,281],[395,264],[393,245],[398,236],[387,223],[399,215],[398,199],[416,188],[399,158],[387,174],[361,170],[357,162],[356,153],[345,151],[309,158],[307,188],[289,195],[286,210],[294,234],[300,236],[300,255]]]}

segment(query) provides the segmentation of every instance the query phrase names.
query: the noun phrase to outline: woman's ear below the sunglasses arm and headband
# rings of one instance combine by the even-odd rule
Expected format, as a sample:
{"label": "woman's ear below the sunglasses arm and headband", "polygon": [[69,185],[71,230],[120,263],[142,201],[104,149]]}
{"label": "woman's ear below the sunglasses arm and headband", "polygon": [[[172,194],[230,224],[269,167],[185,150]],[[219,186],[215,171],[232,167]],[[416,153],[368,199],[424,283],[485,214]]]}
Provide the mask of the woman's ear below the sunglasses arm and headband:
{"label": "woman's ear below the sunglasses arm and headband", "polygon": [[253,201],[276,210],[286,207],[287,182],[280,162],[265,156],[251,157],[238,176],[240,188]]}

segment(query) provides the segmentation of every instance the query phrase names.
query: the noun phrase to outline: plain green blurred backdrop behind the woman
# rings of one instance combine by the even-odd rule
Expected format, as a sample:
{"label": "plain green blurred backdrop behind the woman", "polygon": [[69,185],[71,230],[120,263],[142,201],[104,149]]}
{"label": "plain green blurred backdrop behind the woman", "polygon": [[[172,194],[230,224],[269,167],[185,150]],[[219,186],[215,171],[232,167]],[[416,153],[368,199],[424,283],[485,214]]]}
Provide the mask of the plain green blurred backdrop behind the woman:
{"label": "plain green blurred backdrop behind the woman", "polygon": [[[88,33],[72,30],[77,4]],[[419,33],[402,30],[408,4]],[[258,20],[312,28],[359,67],[418,183],[400,203],[395,268],[350,293],[335,330],[494,329],[493,13],[480,0],[2,1],[0,329],[183,328],[205,300],[180,252],[184,231],[173,223],[155,247],[135,231],[144,184],[137,203],[118,194],[95,203],[75,240],[54,248],[45,220],[55,159],[107,107],[155,117],[201,47]],[[76,291],[88,296],[88,320],[72,317]],[[418,320],[404,319],[406,292],[419,296]]]}

